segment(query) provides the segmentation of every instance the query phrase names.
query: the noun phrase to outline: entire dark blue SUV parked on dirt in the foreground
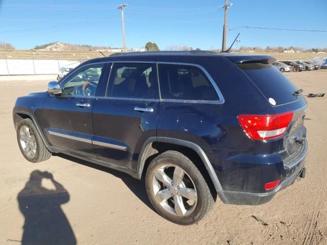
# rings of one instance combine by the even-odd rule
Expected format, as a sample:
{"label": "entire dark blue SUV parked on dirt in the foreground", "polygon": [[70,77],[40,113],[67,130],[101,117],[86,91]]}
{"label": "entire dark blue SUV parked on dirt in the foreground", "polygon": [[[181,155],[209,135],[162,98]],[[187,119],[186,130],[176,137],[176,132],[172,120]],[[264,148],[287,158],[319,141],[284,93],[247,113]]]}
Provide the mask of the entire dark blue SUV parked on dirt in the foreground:
{"label": "entire dark blue SUV parked on dirt in the foreground", "polygon": [[[273,61],[203,51],[86,61],[17,98],[19,149],[30,162],[63,153],[145,179],[156,211],[180,225],[217,196],[266,203],[304,177],[308,152],[307,102]],[[98,81],[81,81],[90,70]]]}

